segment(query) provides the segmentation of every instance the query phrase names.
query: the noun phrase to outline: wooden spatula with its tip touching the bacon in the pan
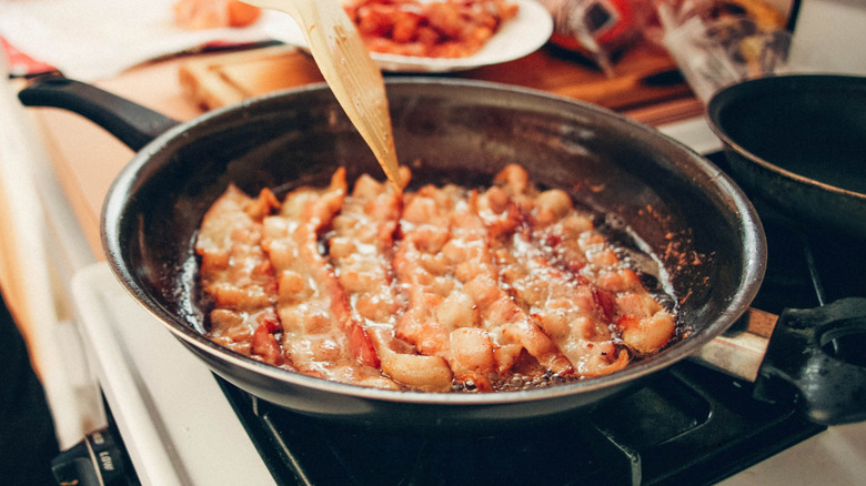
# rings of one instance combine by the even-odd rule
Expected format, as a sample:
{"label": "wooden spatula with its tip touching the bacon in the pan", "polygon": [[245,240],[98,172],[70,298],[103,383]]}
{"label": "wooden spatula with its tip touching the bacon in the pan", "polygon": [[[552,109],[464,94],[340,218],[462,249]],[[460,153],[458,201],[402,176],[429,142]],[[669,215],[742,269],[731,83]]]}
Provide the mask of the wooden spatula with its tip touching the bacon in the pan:
{"label": "wooden spatula with its tip touching the bacon in the pan", "polygon": [[243,0],[291,16],[336,100],[400,191],[391,114],[382,72],[339,0]]}

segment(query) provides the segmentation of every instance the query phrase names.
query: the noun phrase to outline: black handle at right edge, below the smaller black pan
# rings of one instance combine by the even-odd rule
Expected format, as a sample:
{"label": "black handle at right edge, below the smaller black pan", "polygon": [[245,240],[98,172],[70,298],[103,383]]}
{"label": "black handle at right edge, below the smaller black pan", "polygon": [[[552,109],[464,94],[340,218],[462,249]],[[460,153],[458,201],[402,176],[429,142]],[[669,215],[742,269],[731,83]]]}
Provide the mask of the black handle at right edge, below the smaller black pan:
{"label": "black handle at right edge, below the smaller black pan", "polygon": [[755,396],[797,396],[815,423],[866,419],[866,298],[848,297],[816,308],[782,313]]}

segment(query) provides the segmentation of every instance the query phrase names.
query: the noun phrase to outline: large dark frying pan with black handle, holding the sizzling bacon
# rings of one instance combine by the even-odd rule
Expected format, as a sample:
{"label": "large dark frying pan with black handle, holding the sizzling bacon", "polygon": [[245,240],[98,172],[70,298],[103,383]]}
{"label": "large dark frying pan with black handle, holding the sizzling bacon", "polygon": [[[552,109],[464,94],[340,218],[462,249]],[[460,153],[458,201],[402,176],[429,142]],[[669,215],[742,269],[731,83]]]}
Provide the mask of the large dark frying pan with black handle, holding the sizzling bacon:
{"label": "large dark frying pan with black handle, holding the sizzling bacon", "polygon": [[[230,182],[255,193],[324,184],[339,165],[349,169],[350,179],[381,173],[330,90],[275,93],[182,124],[70,80],[40,80],[19,98],[27,105],[84,114],[139,150],[103,206],[110,266],[216,374],[295,412],[420,433],[490,432],[554,418],[603,406],[697,354],[747,310],[765,269],[761,223],[741,190],[685,146],[611,111],[514,87],[400,79],[389,82],[387,93],[397,153],[413,166],[415,180],[489,183],[491,174],[517,162],[534,181],[566,189],[605,215],[602,223],[614,234],[623,229],[636,234],[667,274],[681,338],[608,376],[495,394],[369,389],[261,364],[202,334],[195,230]],[[656,266],[638,263],[650,273]],[[863,382],[852,386],[863,389]],[[849,408],[825,422],[860,419],[866,405],[854,401]]]}

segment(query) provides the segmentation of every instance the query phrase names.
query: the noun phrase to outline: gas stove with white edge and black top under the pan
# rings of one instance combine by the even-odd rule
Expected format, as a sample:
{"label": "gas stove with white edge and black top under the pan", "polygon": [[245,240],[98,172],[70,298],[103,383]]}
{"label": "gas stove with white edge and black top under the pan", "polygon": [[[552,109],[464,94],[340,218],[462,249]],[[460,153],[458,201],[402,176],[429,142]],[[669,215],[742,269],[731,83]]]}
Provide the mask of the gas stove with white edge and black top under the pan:
{"label": "gas stove with white edge and black top under the pan", "polygon": [[[708,155],[724,169],[724,158]],[[806,235],[758,206],[769,245],[756,308],[864,295],[856,242]],[[852,264],[852,262],[859,262]],[[493,436],[417,437],[336,427],[228,384],[129,297],[104,264],[73,281],[79,325],[130,484],[853,484],[866,425],[824,427],[793,402],[685,362],[561,423]],[[808,479],[812,478],[812,479]]]}

